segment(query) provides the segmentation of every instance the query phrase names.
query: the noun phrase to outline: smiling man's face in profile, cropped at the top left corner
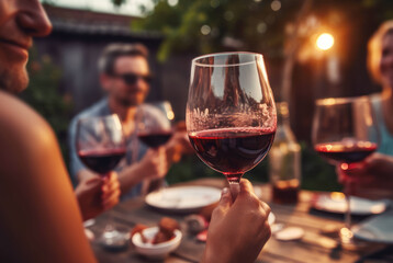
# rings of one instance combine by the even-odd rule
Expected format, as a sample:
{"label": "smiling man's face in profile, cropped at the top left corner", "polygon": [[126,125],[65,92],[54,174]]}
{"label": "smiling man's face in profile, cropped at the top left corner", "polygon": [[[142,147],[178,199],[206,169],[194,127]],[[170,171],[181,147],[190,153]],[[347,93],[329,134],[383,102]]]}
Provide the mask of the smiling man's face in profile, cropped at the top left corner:
{"label": "smiling man's face in profile, cropped at the top left corner", "polygon": [[27,87],[25,67],[32,37],[50,31],[38,0],[0,0],[0,89],[16,93]]}

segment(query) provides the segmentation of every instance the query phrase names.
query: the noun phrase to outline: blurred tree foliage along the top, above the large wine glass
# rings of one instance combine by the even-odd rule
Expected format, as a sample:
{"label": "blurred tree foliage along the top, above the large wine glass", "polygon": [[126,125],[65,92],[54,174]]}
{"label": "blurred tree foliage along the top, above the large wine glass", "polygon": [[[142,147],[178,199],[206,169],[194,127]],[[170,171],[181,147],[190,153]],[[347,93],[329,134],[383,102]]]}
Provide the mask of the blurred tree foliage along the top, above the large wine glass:
{"label": "blurred tree foliage along the top, above the large wine glass", "polygon": [[[296,21],[304,0],[153,0],[155,8],[133,30],[157,31],[165,35],[159,58],[172,52],[212,53],[243,49],[281,56],[285,32]],[[173,2],[176,4],[173,4]],[[172,4],[170,4],[172,3]],[[300,18],[317,18],[318,26],[356,26],[364,16],[371,23],[393,18],[393,1],[326,0],[312,1]],[[307,35],[308,36],[308,35]]]}

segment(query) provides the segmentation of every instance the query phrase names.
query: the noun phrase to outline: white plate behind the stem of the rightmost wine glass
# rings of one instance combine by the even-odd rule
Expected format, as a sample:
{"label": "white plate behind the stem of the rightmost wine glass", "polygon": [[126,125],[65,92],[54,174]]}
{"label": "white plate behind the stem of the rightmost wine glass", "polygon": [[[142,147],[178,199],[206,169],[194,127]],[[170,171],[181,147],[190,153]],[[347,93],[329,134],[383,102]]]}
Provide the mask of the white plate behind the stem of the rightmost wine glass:
{"label": "white plate behind the stem of the rightmost wine glass", "polygon": [[[350,211],[352,215],[367,216],[381,214],[386,210],[389,201],[370,201],[357,196],[350,197]],[[347,210],[347,203],[343,193],[318,194],[314,196],[313,208],[329,213],[344,214]]]}

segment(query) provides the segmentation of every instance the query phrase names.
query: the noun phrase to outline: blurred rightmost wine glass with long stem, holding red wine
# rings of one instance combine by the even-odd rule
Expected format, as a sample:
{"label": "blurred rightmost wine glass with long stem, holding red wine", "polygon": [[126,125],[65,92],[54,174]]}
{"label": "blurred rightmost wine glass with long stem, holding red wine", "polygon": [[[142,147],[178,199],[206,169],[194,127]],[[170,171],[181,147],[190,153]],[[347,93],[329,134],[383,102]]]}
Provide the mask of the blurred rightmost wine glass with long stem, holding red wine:
{"label": "blurred rightmost wine glass with long stem, holding red wine", "polygon": [[[379,130],[368,96],[322,99],[316,101],[313,119],[315,150],[328,162],[350,172],[379,145]],[[350,186],[347,182],[346,188]],[[350,196],[346,195],[345,227],[339,230],[341,244],[355,245],[350,230]]]}

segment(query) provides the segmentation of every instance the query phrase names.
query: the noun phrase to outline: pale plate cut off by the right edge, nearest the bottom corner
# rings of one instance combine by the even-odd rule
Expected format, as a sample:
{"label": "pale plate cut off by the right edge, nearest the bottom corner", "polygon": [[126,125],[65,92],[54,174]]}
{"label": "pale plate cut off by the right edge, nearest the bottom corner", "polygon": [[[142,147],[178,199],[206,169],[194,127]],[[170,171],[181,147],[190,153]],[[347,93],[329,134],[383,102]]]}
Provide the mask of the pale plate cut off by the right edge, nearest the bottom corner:
{"label": "pale plate cut off by the right edge, nearest the bottom corner", "polygon": [[393,243],[393,211],[374,216],[352,227],[356,238],[372,242]]}

